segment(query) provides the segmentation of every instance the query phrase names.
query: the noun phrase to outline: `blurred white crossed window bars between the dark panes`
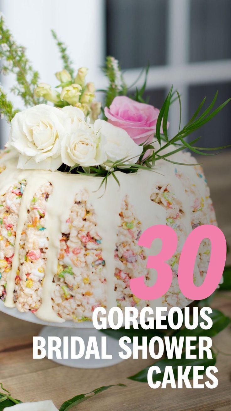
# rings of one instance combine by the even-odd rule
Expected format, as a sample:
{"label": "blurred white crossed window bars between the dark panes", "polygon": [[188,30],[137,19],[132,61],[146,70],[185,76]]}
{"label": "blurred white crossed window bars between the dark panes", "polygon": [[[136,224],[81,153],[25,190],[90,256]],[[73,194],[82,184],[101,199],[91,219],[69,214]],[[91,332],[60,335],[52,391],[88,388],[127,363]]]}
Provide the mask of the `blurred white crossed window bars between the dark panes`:
{"label": "blurred white crossed window bars between the dark panes", "polygon": [[[126,0],[124,0],[126,1]],[[190,1],[169,0],[167,16],[167,65],[151,66],[146,89],[164,88],[167,92],[171,85],[181,94],[182,124],[187,122],[189,107],[189,88],[192,85],[231,82],[231,59],[210,60],[201,62],[189,61],[190,50]],[[124,73],[126,83],[133,84],[142,67],[127,69]],[[106,85],[105,79],[98,79],[101,87]],[[136,86],[142,85],[140,79]],[[135,87],[130,89],[135,90]],[[179,108],[172,106],[169,112],[171,129],[178,126]]]}

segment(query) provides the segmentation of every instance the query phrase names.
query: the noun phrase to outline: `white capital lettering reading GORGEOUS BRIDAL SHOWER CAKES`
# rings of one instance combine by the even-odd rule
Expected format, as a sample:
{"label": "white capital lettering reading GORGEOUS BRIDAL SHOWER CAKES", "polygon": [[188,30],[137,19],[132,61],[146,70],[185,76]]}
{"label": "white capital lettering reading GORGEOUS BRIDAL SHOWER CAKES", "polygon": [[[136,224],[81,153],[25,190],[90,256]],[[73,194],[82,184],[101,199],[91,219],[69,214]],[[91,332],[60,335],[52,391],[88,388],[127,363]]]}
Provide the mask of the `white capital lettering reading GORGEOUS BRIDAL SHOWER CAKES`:
{"label": "white capital lettering reading GORGEOUS BRIDAL SHOWER CAKES", "polygon": [[[118,330],[124,326],[125,334],[126,330],[129,330],[132,326],[134,330],[142,327],[144,330],[153,330],[153,337],[149,344],[147,342],[147,336],[142,336],[142,344],[139,343],[138,337],[134,336],[133,339],[124,335],[119,339],[119,346],[121,351],[119,356],[122,359],[128,359],[130,357],[137,359],[139,352],[143,359],[148,358],[148,354],[155,360],[162,358],[164,351],[168,359],[203,359],[204,356],[208,359],[212,359],[212,339],[206,336],[180,336],[169,337],[167,335],[164,338],[155,336],[155,330],[166,330],[171,328],[178,330],[182,325],[189,330],[194,330],[200,326],[203,330],[209,330],[213,321],[209,314],[212,313],[210,307],[203,307],[199,310],[199,307],[193,307],[193,314],[190,313],[190,307],[185,307],[183,310],[179,307],[172,307],[167,312],[166,307],[156,307],[155,312],[151,307],[144,307],[139,315],[138,309],[135,307],[125,307],[123,314],[119,307],[112,307],[106,315],[104,307],[96,307],[93,313],[93,325],[96,330],[105,330],[108,326],[114,330]],[[154,315],[155,314],[155,315]],[[167,315],[168,314],[168,315]],[[156,320],[155,320],[156,318]],[[56,356],[57,359],[89,359],[93,356],[95,359],[111,359],[110,347],[107,347],[107,337],[102,334],[101,337],[101,350],[98,348],[97,340],[95,336],[91,336],[88,339],[87,344],[79,336],[69,337],[48,337],[47,347],[46,340],[43,337],[34,337],[33,344],[33,358],[44,358],[46,355],[49,359],[53,359]],[[133,346],[131,348],[131,343]],[[198,349],[196,352],[196,345]],[[62,353],[60,348],[62,347]],[[100,352],[101,351],[101,352]],[[182,365],[177,367],[177,388],[183,387],[183,382],[187,388],[192,388],[188,379],[188,375],[193,369],[193,388],[204,388],[204,383],[199,383],[199,380],[204,379],[201,373],[205,372],[208,381],[205,381],[205,385],[208,388],[215,388],[218,384],[217,378],[214,373],[217,372],[217,368],[209,366],[205,369],[203,366],[187,366],[185,369]],[[153,365],[149,368],[148,383],[151,388],[160,387],[160,381],[153,382],[153,373],[160,373],[161,370],[158,366]],[[209,381],[211,380],[211,382]],[[161,388],[166,388],[167,384],[170,384],[172,388],[176,388],[176,381],[174,371],[171,366],[165,367],[164,378]]]}

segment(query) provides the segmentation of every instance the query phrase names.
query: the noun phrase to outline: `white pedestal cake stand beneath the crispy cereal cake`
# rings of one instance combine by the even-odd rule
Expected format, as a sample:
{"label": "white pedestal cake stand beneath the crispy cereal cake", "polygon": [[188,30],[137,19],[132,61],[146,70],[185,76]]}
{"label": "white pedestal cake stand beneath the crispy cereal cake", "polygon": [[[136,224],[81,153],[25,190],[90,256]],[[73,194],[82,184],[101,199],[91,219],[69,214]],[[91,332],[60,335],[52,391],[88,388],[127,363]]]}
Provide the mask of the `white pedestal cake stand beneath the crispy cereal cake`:
{"label": "white pedestal cake stand beneath the crispy cereal cake", "polygon": [[[38,319],[32,312],[19,312],[16,308],[7,308],[4,302],[0,300],[0,311],[8,314],[12,317],[18,318],[20,320],[29,321],[30,323],[40,324],[44,326],[39,332],[40,337],[46,339],[47,337],[59,337],[63,340],[64,336],[69,337],[69,353],[70,353],[70,342],[71,336],[78,336],[84,340],[85,348],[90,336],[95,336],[97,340],[98,350],[101,354],[101,337],[104,335],[102,332],[96,330],[93,324],[89,321],[84,321],[82,323],[74,323],[72,321],[65,321],[64,323],[50,323],[47,321],[42,321]],[[132,346],[132,344],[130,344]],[[47,351],[47,350],[46,350]],[[121,347],[117,339],[109,337],[107,335],[107,354],[112,354],[112,359],[96,359],[94,355],[91,355],[89,359],[85,359],[83,356],[80,359],[63,359],[62,347],[60,347],[62,359],[53,358],[55,363],[61,365],[68,365],[69,367],[75,368],[102,368],[109,367],[110,365],[115,365],[123,361],[119,357],[119,351]],[[55,356],[55,354],[54,354]]]}

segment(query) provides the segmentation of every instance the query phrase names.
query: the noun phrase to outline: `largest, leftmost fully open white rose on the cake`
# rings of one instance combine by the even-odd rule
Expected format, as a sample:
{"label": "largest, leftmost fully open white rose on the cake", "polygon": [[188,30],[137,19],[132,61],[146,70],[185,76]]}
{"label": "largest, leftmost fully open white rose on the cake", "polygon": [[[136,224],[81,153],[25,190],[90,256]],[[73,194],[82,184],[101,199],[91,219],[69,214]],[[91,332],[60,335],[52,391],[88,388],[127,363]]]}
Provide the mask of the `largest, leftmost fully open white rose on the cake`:
{"label": "largest, leftmost fully open white rose on the cake", "polygon": [[6,147],[19,153],[19,169],[57,170],[62,159],[60,143],[65,134],[66,114],[55,107],[39,104],[17,113],[11,121]]}

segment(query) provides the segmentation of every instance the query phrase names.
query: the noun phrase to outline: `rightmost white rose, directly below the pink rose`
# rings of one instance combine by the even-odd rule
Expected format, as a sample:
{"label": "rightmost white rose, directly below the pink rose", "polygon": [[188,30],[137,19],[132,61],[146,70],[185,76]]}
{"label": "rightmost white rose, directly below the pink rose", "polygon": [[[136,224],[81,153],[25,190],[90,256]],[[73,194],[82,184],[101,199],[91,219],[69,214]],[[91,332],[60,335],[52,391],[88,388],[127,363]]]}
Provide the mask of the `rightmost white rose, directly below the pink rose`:
{"label": "rightmost white rose, directly below the pink rose", "polygon": [[143,147],[137,145],[125,130],[100,119],[94,122],[93,127],[97,134],[106,138],[104,150],[108,161],[113,164],[117,160],[126,158],[123,161],[125,165],[135,164],[138,161]]}

